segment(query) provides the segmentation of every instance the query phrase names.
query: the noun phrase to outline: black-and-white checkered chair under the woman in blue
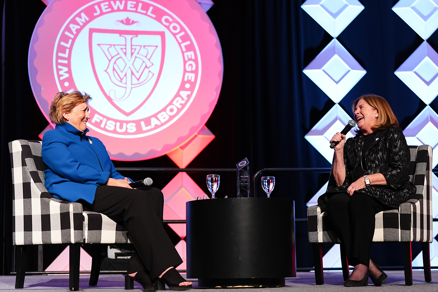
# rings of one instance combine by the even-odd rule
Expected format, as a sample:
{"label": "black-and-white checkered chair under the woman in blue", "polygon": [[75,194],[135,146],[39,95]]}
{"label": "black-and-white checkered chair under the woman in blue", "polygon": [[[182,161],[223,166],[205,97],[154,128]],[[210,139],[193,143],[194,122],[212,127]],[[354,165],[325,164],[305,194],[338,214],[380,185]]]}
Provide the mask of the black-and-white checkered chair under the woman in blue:
{"label": "black-and-white checkered chair under the woman in blue", "polygon": [[106,215],[83,211],[80,203],[55,199],[44,186],[46,166],[41,141],[9,142],[12,164],[12,239],[16,249],[15,288],[23,288],[26,246],[30,244],[70,245],[70,290],[79,289],[80,246],[92,244],[89,285],[97,285],[102,244],[130,243],[127,229]]}

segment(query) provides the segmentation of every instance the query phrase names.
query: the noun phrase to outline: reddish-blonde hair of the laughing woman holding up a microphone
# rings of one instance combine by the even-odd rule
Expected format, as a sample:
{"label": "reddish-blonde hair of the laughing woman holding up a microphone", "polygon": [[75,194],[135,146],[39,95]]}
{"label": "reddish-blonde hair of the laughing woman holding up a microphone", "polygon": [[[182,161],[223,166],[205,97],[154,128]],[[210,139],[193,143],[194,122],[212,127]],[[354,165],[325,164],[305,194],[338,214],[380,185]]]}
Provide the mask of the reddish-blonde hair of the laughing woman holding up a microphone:
{"label": "reddish-blonde hair of the laughing woman holding up a microphone", "polygon": [[392,112],[391,106],[389,106],[389,103],[386,101],[386,99],[378,95],[368,94],[362,95],[361,97],[357,98],[351,105],[353,114],[356,109],[357,103],[361,99],[363,99],[365,102],[367,102],[367,104],[372,106],[374,109],[377,109],[378,111],[377,122],[374,124],[373,127],[371,127],[371,129],[385,130],[389,127],[399,127],[399,121],[397,120],[394,112]]}

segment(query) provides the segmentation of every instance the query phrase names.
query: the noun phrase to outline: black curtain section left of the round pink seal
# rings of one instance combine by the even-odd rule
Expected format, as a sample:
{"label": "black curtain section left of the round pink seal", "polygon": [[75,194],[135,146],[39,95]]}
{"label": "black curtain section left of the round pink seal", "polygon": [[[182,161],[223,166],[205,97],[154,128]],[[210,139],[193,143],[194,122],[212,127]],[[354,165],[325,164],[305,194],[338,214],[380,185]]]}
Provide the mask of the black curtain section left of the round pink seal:
{"label": "black curtain section left of the round pink seal", "polygon": [[30,87],[27,56],[33,28],[46,8],[41,1],[1,1],[2,96],[1,96],[1,174],[2,187],[2,274],[12,268],[12,180],[8,142],[16,139],[39,140],[48,122],[42,116]]}

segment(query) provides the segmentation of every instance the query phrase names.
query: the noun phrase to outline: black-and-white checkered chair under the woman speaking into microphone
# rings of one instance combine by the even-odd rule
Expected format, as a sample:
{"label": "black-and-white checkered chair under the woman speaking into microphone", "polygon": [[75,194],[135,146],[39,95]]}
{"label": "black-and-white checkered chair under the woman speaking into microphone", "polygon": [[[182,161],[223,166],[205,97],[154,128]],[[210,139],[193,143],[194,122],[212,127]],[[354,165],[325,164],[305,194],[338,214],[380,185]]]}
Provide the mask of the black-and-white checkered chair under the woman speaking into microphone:
{"label": "black-and-white checkered chair under the woman speaking into microphone", "polygon": [[[405,282],[412,282],[411,243],[423,243],[424,279],[432,281],[429,243],[432,235],[432,148],[429,145],[409,146],[410,181],[417,187],[417,193],[398,210],[382,211],[376,214],[373,242],[401,242]],[[325,212],[321,208],[307,208],[309,242],[313,245],[315,280],[324,284],[321,243],[340,243],[341,263],[344,280],[350,277],[345,248],[332,231]]]}

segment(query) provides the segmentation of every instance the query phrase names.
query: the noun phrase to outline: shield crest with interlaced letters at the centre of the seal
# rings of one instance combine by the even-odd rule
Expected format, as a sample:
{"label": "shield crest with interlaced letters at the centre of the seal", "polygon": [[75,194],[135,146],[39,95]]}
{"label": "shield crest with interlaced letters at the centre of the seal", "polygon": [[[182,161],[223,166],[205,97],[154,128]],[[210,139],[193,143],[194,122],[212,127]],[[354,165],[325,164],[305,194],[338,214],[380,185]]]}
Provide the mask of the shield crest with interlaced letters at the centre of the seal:
{"label": "shield crest with interlaced letters at the centre of the seal", "polygon": [[145,104],[161,76],[164,32],[90,28],[89,52],[99,88],[120,113]]}

